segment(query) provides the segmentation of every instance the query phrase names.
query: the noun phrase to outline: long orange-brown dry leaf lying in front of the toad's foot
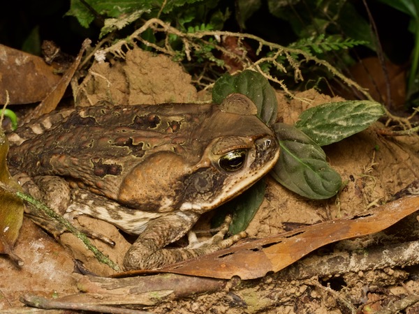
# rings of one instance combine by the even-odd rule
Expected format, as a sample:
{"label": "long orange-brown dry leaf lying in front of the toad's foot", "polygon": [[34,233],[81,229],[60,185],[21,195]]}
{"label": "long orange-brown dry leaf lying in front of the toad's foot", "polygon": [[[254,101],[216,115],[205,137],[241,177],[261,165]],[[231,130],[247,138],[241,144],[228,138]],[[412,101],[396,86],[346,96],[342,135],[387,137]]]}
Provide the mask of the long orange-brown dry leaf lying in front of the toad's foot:
{"label": "long orange-brown dry leaf lying in front of the toad's foot", "polygon": [[343,239],[384,230],[419,209],[419,196],[404,197],[356,216],[329,220],[275,237],[237,245],[223,251],[164,267],[161,271],[214,278],[254,279],[279,271],[308,253]]}

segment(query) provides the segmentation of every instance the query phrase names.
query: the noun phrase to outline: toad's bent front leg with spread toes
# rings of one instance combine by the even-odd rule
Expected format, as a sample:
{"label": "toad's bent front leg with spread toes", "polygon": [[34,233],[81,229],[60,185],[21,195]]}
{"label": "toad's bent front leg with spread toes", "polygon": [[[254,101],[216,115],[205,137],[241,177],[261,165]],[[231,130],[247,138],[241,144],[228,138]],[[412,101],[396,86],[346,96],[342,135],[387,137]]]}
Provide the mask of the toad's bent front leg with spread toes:
{"label": "toad's bent front leg with spread toes", "polygon": [[165,248],[189,232],[199,217],[200,215],[196,213],[177,211],[170,216],[150,220],[144,232],[126,253],[124,268],[126,270],[156,269],[219,251],[245,237],[243,232],[223,240],[223,235],[228,230],[228,222],[227,225],[221,227],[222,231],[213,237],[213,241],[205,241],[202,246],[193,244],[193,248]]}

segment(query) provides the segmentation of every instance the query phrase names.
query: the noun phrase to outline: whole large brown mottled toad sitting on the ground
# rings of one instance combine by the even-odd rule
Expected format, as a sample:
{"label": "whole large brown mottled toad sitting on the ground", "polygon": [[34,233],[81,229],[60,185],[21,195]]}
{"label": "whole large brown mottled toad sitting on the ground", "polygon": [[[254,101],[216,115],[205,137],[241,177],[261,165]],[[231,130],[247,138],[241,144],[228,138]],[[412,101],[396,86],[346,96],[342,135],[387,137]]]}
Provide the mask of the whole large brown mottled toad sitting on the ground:
{"label": "whole large brown mottled toad sitting on the ground", "polygon": [[[64,110],[9,135],[8,163],[31,178],[28,189],[34,196],[51,203],[59,191],[63,201],[51,205],[55,210],[78,211],[139,234],[124,267],[153,269],[240,238],[164,248],[191,230],[201,214],[272,168],[279,144],[255,114],[256,106],[239,94],[221,105]],[[78,187],[68,189],[67,181]]]}

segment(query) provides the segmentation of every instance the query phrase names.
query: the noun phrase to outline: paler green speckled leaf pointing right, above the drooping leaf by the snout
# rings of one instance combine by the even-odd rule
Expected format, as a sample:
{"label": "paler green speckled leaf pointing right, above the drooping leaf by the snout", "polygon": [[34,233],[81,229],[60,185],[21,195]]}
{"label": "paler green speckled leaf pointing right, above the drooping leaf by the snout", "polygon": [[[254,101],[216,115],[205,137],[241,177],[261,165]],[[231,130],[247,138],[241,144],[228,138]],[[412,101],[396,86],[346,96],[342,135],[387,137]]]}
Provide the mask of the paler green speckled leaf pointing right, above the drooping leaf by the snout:
{"label": "paler green speckled leaf pointing right, above the drooping leaf by the snout", "polygon": [[383,114],[383,106],[369,100],[325,103],[302,112],[295,127],[324,146],[365,130]]}

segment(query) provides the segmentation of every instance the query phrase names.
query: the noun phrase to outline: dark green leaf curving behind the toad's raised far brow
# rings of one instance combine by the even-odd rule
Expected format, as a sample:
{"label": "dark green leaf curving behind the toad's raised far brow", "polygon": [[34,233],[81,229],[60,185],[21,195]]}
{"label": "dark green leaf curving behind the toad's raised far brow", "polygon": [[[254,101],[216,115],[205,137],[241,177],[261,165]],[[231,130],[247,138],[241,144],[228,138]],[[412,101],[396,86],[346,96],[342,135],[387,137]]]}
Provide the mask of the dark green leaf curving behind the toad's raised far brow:
{"label": "dark green leaf curving behind the toad's raised far brow", "polygon": [[212,89],[212,101],[221,103],[233,93],[249,97],[258,107],[258,117],[268,126],[277,119],[277,96],[269,82],[260,73],[244,70],[237,75],[223,75]]}

